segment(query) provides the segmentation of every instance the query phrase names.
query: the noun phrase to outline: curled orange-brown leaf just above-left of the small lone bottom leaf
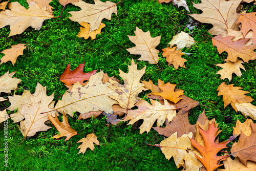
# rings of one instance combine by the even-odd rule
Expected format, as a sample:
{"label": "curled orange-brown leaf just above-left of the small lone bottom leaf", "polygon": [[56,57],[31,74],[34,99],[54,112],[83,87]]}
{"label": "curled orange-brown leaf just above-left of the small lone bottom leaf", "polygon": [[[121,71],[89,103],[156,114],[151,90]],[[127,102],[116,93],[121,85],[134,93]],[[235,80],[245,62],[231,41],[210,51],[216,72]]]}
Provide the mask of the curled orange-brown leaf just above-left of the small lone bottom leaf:
{"label": "curled orange-brown leaf just above-left of the small lone bottom leaf", "polygon": [[49,115],[49,114],[47,114],[47,116],[49,117],[49,120],[59,132],[59,134],[53,136],[52,138],[57,139],[60,137],[67,137],[65,139],[65,141],[67,141],[74,135],[77,135],[77,132],[74,129],[72,129],[72,127],[69,125],[68,117],[65,115],[65,113],[63,113],[62,115],[62,119],[63,119],[62,122],[58,120],[57,116],[53,117],[52,115]]}

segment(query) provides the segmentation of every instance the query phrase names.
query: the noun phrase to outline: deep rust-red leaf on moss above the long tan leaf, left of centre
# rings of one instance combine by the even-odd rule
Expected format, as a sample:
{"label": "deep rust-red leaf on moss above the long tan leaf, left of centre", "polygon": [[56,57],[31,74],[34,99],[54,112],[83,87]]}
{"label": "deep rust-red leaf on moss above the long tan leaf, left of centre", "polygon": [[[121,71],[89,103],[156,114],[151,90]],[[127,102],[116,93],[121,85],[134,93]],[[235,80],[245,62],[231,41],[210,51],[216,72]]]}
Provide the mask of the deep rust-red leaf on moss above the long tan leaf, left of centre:
{"label": "deep rust-red leaf on moss above the long tan leaf, left of centre", "polygon": [[91,75],[94,75],[97,72],[97,70],[91,71],[89,73],[84,73],[82,71],[84,67],[84,63],[80,63],[79,66],[73,71],[70,70],[70,63],[69,63],[69,65],[67,66],[63,74],[61,74],[59,80],[61,82],[64,82],[67,86],[72,86],[77,81],[80,82],[80,84],[83,84],[83,81],[89,80]]}

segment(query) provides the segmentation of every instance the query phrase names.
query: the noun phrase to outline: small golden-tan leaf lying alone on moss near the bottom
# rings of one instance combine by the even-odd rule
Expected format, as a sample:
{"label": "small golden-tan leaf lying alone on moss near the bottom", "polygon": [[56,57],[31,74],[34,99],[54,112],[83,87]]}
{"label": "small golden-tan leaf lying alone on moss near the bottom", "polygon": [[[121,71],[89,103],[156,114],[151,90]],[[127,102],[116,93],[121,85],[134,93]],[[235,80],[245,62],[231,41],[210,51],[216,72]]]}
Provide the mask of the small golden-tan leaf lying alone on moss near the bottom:
{"label": "small golden-tan leaf lying alone on moss near the bottom", "polygon": [[[82,154],[86,153],[87,148],[90,148],[93,151],[94,150],[93,143],[99,145],[99,141],[97,140],[97,136],[94,133],[88,134],[86,136],[86,138],[82,138],[78,142],[82,142],[82,144],[78,146],[78,148],[81,148],[79,153],[82,153]],[[78,149],[78,148],[76,148],[76,149]]]}

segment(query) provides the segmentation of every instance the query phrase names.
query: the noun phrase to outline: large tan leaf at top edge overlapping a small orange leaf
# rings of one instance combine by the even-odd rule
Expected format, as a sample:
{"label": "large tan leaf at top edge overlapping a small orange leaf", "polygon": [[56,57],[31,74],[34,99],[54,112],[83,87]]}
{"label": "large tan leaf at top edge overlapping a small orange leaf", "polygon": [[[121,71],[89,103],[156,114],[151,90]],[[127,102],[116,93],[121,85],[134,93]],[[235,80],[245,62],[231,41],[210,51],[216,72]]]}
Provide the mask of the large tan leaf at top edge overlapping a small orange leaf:
{"label": "large tan leaf at top edge overlapping a small orange leaf", "polygon": [[86,22],[90,24],[90,32],[99,29],[101,20],[106,18],[111,20],[112,13],[117,15],[117,6],[115,3],[106,1],[105,3],[94,0],[95,4],[88,4],[83,1],[78,3],[72,3],[75,6],[81,8],[80,11],[69,12],[72,16],[69,17],[72,21],[82,23]]}

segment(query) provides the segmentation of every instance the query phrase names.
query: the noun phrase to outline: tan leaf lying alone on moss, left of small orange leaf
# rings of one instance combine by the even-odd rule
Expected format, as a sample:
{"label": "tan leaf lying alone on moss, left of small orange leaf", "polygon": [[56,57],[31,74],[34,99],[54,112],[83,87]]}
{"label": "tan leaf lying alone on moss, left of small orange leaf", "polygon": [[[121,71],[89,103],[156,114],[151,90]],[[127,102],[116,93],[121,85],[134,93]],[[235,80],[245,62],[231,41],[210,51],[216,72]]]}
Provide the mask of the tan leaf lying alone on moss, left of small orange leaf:
{"label": "tan leaf lying alone on moss, left of small orange leaf", "polygon": [[161,36],[151,37],[150,31],[143,32],[136,27],[135,36],[128,36],[136,45],[133,48],[126,49],[134,55],[141,55],[138,60],[148,61],[151,64],[157,64],[159,60],[159,50],[156,47],[160,44]]}

